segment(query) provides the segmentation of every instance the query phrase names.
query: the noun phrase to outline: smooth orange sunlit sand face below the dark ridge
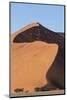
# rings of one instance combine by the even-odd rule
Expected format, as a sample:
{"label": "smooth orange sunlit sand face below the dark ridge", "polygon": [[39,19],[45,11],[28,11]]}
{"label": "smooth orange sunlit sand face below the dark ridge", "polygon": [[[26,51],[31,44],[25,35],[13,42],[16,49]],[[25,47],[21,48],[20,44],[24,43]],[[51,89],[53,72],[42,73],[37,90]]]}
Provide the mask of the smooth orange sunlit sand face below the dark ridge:
{"label": "smooth orange sunlit sand face below the dark ridge", "polygon": [[11,48],[11,91],[34,88],[47,84],[46,73],[58,52],[57,44],[42,41],[13,43]]}

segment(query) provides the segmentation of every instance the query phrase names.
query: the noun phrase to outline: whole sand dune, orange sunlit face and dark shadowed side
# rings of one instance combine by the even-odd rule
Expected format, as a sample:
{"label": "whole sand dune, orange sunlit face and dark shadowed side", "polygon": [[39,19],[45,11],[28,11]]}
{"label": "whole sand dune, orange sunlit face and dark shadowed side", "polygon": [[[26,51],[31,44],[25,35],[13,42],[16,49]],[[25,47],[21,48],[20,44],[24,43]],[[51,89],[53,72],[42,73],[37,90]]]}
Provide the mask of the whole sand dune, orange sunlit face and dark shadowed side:
{"label": "whole sand dune, orange sunlit face and dark shadowed side", "polygon": [[[63,34],[63,33],[62,33]],[[11,36],[11,91],[64,89],[64,35],[39,23]]]}

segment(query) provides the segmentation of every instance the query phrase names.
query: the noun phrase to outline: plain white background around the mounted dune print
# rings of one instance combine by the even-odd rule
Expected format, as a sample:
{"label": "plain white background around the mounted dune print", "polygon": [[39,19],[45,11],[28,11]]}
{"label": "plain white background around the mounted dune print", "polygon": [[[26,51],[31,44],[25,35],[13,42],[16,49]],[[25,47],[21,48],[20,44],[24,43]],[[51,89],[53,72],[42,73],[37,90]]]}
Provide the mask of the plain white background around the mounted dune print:
{"label": "plain white background around the mounted dune print", "polygon": [[[9,100],[9,1],[0,1],[0,100]],[[33,2],[48,4],[63,4],[67,6],[67,0],[13,0],[17,2]],[[16,99],[16,98],[15,98]],[[20,98],[22,99],[22,98]],[[28,100],[66,100],[66,95],[28,97]],[[19,98],[17,98],[19,100]]]}

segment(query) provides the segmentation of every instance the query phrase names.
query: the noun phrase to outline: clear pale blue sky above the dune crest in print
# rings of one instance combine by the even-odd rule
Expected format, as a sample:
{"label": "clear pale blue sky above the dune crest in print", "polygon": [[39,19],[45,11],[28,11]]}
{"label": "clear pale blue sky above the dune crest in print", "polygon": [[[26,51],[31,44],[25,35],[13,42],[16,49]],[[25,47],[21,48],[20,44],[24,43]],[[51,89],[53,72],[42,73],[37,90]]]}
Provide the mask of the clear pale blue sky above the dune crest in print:
{"label": "clear pale blue sky above the dune crest in print", "polygon": [[37,22],[52,31],[64,32],[64,6],[11,3],[11,33]]}

